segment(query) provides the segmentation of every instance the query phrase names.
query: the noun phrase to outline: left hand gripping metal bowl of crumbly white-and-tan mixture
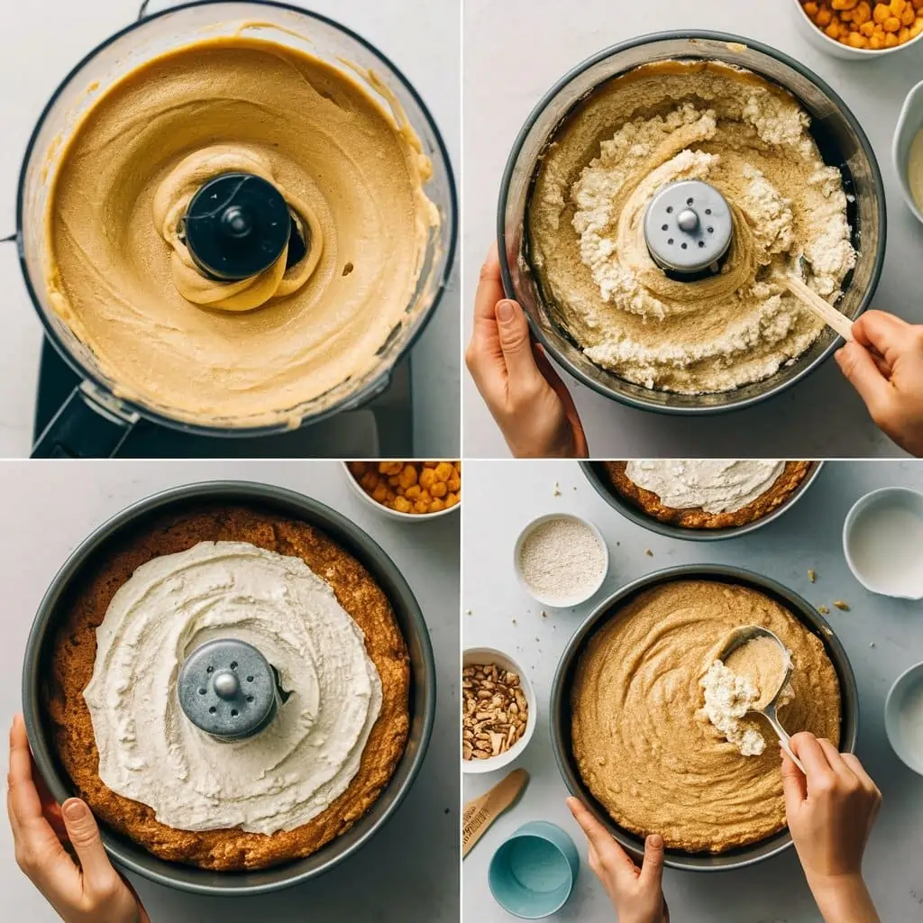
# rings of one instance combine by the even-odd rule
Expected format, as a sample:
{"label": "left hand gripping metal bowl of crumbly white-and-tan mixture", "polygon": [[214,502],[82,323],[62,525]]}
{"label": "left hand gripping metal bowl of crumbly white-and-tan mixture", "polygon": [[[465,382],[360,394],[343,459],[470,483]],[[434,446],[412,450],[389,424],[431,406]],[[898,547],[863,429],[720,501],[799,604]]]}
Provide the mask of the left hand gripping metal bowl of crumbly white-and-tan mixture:
{"label": "left hand gripping metal bowl of crumbly white-and-tan mixture", "polygon": [[533,343],[522,308],[503,296],[497,245],[474,295],[465,364],[516,458],[586,458],[589,450],[567,386]]}

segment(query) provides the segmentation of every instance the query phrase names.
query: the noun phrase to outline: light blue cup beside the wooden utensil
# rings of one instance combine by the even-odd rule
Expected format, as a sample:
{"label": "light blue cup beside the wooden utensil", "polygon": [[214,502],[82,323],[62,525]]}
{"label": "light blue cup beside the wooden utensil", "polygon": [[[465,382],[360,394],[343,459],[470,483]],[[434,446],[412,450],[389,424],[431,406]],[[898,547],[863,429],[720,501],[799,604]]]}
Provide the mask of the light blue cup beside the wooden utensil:
{"label": "light blue cup beside the wooden utensil", "polygon": [[487,883],[504,910],[537,920],[567,904],[579,871],[580,856],[568,834],[553,823],[532,821],[494,853]]}

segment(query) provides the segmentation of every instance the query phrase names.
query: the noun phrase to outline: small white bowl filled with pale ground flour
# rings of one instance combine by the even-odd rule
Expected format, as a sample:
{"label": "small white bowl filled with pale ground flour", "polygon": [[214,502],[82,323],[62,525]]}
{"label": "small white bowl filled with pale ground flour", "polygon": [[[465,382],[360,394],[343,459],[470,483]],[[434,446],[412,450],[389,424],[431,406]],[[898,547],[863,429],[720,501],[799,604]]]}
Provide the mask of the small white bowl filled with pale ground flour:
{"label": "small white bowl filled with pale ground flour", "polygon": [[565,609],[598,592],[609,571],[609,549],[592,522],[571,513],[549,513],[522,530],[513,565],[538,602]]}

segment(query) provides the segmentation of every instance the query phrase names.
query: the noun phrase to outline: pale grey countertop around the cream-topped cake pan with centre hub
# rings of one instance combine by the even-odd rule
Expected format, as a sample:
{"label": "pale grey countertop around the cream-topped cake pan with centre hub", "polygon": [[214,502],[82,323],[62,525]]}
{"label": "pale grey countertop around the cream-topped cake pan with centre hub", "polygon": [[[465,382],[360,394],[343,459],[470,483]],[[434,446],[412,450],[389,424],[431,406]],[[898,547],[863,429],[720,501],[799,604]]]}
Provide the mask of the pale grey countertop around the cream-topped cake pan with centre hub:
{"label": "pale grey countertop around the cream-topped cake pan with centre hub", "polygon": [[[42,594],[93,528],[141,497],[173,485],[225,478],[278,484],[338,509],[382,545],[423,609],[438,676],[437,720],[426,762],[396,814],[354,857],[280,893],[230,901],[174,892],[138,876],[132,881],[152,923],[301,923],[308,917],[318,923],[457,923],[457,515],[419,524],[386,519],[354,494],[339,462],[4,462],[0,475],[4,728],[21,708],[22,656]],[[6,755],[3,761],[6,765]],[[0,894],[22,923],[58,919],[19,871],[6,816],[0,821]]]}

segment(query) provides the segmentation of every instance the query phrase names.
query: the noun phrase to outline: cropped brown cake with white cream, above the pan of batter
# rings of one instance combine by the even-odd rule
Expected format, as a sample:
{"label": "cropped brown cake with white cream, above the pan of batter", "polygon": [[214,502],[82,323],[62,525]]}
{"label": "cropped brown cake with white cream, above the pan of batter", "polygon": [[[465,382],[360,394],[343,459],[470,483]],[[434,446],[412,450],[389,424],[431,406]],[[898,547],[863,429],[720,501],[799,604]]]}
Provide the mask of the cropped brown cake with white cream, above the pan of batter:
{"label": "cropped brown cake with white cream, above the pan of batter", "polygon": [[729,529],[768,516],[813,462],[663,459],[603,462],[617,493],[653,519],[684,529]]}

